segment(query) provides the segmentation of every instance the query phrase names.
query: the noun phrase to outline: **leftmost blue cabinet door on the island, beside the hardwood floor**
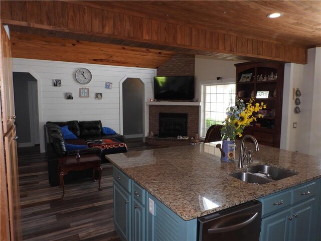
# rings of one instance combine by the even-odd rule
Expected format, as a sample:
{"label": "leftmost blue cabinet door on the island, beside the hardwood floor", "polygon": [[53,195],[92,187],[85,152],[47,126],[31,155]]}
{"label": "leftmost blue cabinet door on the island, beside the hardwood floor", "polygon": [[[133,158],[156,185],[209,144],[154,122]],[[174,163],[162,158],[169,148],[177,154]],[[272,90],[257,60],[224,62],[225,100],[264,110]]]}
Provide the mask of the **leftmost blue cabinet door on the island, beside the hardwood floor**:
{"label": "leftmost blue cabinet door on the island, beside the hardwood floor", "polygon": [[131,240],[130,210],[131,196],[118,183],[114,182],[114,224],[121,240]]}

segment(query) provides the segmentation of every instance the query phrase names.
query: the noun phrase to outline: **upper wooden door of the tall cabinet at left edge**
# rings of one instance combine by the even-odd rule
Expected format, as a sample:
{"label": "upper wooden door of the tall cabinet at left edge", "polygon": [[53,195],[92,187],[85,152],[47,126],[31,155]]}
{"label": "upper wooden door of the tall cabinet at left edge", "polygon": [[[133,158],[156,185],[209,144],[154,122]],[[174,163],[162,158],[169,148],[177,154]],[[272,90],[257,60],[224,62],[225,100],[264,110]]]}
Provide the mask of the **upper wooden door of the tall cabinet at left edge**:
{"label": "upper wooden door of the tall cabinet at left edge", "polygon": [[3,118],[3,132],[7,133],[14,125],[15,103],[14,85],[11,63],[11,43],[4,26],[1,23],[1,44],[0,44],[0,80],[1,80],[1,104]]}

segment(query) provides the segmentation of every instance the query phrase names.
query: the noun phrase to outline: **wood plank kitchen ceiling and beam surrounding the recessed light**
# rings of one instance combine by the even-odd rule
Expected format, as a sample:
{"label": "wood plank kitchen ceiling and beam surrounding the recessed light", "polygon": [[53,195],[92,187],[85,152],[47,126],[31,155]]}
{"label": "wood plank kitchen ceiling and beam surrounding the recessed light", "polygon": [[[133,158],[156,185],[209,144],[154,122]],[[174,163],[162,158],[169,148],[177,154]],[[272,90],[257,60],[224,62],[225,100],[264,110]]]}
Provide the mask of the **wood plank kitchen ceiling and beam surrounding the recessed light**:
{"label": "wood plank kitchen ceiling and beam surrounding the recessed light", "polygon": [[1,18],[14,32],[243,60],[304,64],[321,45],[321,1],[1,1]]}

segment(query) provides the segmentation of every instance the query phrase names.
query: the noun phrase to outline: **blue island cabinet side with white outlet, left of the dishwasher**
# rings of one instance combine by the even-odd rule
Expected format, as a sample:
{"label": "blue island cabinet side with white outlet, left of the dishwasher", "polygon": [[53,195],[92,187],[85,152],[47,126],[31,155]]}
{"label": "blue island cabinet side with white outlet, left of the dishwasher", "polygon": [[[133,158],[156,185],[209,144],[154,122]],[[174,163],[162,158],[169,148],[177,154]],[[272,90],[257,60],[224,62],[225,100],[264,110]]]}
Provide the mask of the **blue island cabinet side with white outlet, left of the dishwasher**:
{"label": "blue island cabinet side with white outlet, left of the dishwasher", "polygon": [[183,220],[115,167],[113,178],[114,224],[122,241],[196,240],[197,219]]}

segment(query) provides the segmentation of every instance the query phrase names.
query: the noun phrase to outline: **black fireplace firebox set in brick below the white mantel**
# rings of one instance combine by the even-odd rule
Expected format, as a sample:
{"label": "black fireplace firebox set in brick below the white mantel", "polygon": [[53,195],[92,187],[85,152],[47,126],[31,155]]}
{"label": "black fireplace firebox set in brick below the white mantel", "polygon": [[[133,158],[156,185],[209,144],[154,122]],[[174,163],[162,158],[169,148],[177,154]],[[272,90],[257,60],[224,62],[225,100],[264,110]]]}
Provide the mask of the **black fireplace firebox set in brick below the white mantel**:
{"label": "black fireplace firebox set in brick below the white mantel", "polygon": [[187,113],[159,113],[159,136],[187,136]]}

